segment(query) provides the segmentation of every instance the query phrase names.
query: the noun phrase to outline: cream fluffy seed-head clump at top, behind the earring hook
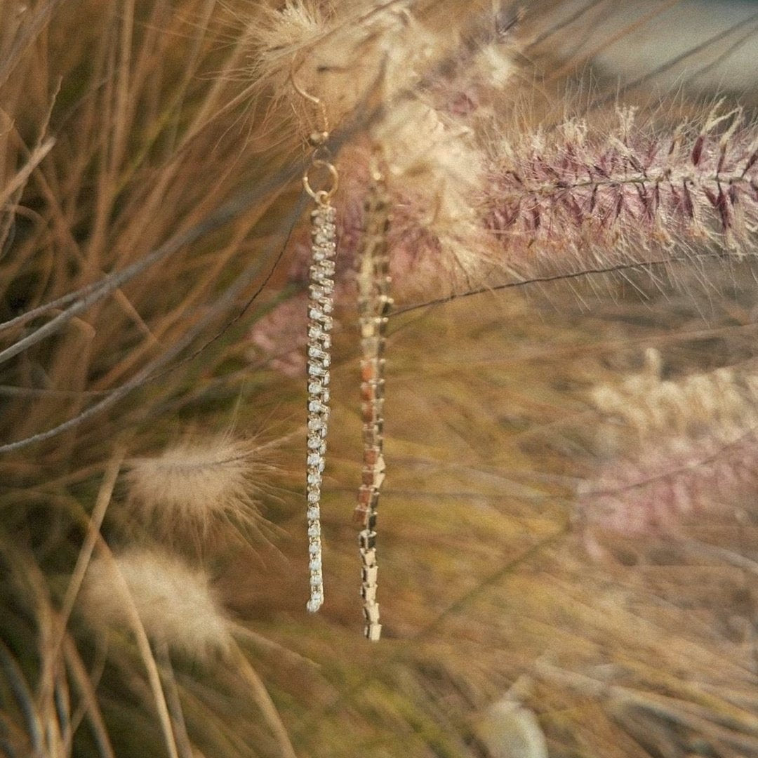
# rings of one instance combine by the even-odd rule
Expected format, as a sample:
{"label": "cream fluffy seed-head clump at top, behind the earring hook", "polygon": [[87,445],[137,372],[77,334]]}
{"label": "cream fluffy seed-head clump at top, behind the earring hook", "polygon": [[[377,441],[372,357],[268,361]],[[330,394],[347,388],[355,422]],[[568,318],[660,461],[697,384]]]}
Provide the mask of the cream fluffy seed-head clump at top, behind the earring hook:
{"label": "cream fluffy seed-head clump at top, behind the earring hook", "polygon": [[[288,2],[250,21],[254,78],[270,92],[271,108],[284,106],[290,121],[293,108],[306,124],[322,118],[320,107],[296,94],[294,78],[321,101],[333,133],[350,134],[335,157],[340,249],[350,249],[361,228],[367,145],[379,147],[393,200],[394,287],[414,295],[462,289],[493,264],[476,205],[486,179],[481,139],[512,73],[512,45],[497,33],[495,18],[486,31],[461,31],[441,13],[354,0],[332,14],[316,3]],[[302,123],[293,144],[296,133],[307,133]]]}

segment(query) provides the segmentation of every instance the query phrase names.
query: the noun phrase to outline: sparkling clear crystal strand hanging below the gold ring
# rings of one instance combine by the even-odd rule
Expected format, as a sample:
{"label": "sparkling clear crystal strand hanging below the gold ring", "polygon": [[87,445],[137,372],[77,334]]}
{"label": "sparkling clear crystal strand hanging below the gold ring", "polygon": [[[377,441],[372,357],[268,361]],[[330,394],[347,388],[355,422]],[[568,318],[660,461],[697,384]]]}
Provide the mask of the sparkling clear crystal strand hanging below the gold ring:
{"label": "sparkling clear crystal strand hanging below the gold ring", "polygon": [[334,208],[328,199],[317,200],[311,214],[312,265],[309,283],[308,327],[308,454],[305,479],[305,500],[308,503],[308,553],[311,597],[306,606],[316,612],[324,602],[324,577],[321,573],[321,481],[326,453],[326,435],[329,422],[329,370],[332,319],[332,293],[334,292],[334,262],[337,252],[334,242]]}

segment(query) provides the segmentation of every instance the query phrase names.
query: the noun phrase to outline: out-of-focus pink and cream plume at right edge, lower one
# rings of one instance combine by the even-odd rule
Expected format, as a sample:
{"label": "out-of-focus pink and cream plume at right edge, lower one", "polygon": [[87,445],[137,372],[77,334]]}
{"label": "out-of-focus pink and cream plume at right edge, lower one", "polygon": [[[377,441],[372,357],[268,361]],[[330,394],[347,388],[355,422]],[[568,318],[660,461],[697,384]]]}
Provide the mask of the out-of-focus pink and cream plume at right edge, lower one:
{"label": "out-of-focus pink and cream plume at right edge, lower one", "polygon": [[672,534],[755,507],[758,383],[726,368],[663,381],[657,352],[647,357],[646,373],[593,393],[601,458],[577,500],[588,544],[602,531]]}

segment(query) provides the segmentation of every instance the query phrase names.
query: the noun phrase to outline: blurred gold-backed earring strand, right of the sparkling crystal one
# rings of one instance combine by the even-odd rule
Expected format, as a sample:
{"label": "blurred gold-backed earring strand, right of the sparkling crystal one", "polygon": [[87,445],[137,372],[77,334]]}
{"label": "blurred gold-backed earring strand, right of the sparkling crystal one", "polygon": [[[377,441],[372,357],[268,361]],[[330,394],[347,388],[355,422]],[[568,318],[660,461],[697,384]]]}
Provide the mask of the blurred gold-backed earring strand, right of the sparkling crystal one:
{"label": "blurred gold-backed earring strand, right of the sparkling crystal one", "polygon": [[378,175],[365,205],[365,229],[358,271],[358,312],[361,331],[361,397],[363,418],[363,477],[356,516],[363,524],[359,534],[361,597],[365,636],[381,637],[377,597],[376,524],[379,490],[384,481],[384,352],[387,312],[392,305],[387,258],[390,224],[387,193]]}

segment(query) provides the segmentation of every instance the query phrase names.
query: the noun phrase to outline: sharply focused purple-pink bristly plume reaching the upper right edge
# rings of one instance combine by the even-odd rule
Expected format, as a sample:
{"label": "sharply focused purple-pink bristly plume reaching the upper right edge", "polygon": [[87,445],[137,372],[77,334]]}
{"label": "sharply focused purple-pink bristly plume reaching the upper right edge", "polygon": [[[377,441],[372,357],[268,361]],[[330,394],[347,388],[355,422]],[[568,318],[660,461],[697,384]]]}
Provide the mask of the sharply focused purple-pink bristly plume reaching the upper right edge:
{"label": "sharply focused purple-pink bristly plume reaching the upper right edge", "polygon": [[610,135],[572,122],[493,160],[484,224],[509,268],[624,265],[677,244],[744,252],[758,224],[758,135],[740,111],[669,134],[619,115]]}

